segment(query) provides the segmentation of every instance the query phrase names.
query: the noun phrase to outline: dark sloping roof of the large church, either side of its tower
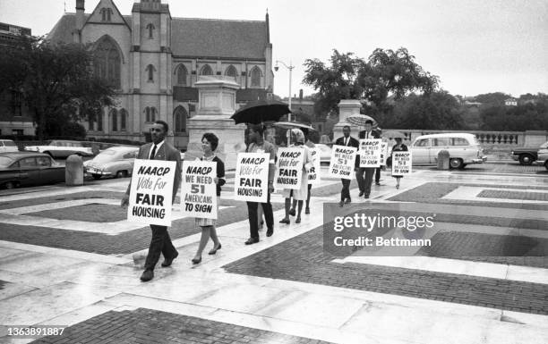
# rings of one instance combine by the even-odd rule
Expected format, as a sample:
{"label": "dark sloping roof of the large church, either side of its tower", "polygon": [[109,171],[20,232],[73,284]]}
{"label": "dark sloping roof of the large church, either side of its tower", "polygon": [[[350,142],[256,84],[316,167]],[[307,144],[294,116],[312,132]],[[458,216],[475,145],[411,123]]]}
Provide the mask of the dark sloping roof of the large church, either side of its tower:
{"label": "dark sloping roof of the large church, either side of its tower", "polygon": [[[88,21],[90,14],[85,14]],[[132,16],[124,16],[132,27]],[[76,13],[64,13],[47,34],[52,42],[70,43]],[[177,57],[206,57],[265,60],[266,21],[227,21],[196,18],[173,18],[171,21],[171,51]]]}

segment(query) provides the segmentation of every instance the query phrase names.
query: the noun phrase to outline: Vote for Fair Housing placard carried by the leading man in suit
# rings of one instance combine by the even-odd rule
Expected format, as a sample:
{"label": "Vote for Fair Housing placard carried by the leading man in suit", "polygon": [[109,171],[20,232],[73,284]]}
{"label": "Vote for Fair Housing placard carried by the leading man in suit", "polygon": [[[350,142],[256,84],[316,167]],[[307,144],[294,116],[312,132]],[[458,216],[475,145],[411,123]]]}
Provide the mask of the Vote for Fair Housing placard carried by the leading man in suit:
{"label": "Vote for Fair Housing placard carried by the leading man in suit", "polygon": [[135,159],[127,221],[171,226],[176,162]]}

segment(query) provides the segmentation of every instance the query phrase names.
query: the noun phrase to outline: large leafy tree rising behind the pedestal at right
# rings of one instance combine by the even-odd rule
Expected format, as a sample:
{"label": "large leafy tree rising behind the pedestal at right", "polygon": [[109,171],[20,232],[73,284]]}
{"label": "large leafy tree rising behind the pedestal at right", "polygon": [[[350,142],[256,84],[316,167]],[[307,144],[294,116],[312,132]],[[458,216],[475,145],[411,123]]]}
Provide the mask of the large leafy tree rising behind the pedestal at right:
{"label": "large leafy tree rising behind the pedestal at right", "polygon": [[304,67],[303,82],[318,91],[318,106],[324,113],[337,111],[341,99],[371,102],[384,111],[390,95],[400,99],[413,91],[430,93],[438,87],[438,77],[423,71],[403,47],[396,51],[375,49],[367,61],[333,50],[329,66],[307,59]]}

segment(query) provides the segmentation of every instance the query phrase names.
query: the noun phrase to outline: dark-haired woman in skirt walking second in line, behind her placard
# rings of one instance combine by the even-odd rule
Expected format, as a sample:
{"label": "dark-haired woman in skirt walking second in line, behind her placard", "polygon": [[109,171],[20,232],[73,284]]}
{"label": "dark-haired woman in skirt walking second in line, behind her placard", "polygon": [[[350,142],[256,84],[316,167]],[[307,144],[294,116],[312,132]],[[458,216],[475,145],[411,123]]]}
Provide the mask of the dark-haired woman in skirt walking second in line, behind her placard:
{"label": "dark-haired woman in skirt walking second in line, behind her placard", "polygon": [[[221,159],[215,155],[215,149],[218,147],[218,137],[210,132],[203,134],[201,137],[201,148],[203,149],[202,161],[210,161],[217,163],[217,178],[215,183],[217,184],[217,206],[220,201],[221,187],[225,185],[225,164]],[[221,248],[221,244],[218,241],[217,230],[215,229],[216,221],[214,219],[202,219],[196,218],[196,225],[201,227],[200,245],[196,256],[193,257],[193,264],[199,264],[201,262],[201,252],[208,244],[210,238],[213,240],[213,248],[210,250],[210,255],[215,255]]]}

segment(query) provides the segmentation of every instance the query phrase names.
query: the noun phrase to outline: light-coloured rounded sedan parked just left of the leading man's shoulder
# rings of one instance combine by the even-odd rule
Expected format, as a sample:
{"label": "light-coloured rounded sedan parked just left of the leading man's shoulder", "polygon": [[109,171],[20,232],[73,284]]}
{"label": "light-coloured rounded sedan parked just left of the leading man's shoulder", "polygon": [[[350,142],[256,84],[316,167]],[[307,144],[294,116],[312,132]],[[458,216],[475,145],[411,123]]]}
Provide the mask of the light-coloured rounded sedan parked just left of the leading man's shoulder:
{"label": "light-coloured rounded sedan parked just left of the leading man's shoulder", "polygon": [[84,162],[84,172],[98,180],[104,176],[124,178],[132,174],[139,147],[110,147]]}

